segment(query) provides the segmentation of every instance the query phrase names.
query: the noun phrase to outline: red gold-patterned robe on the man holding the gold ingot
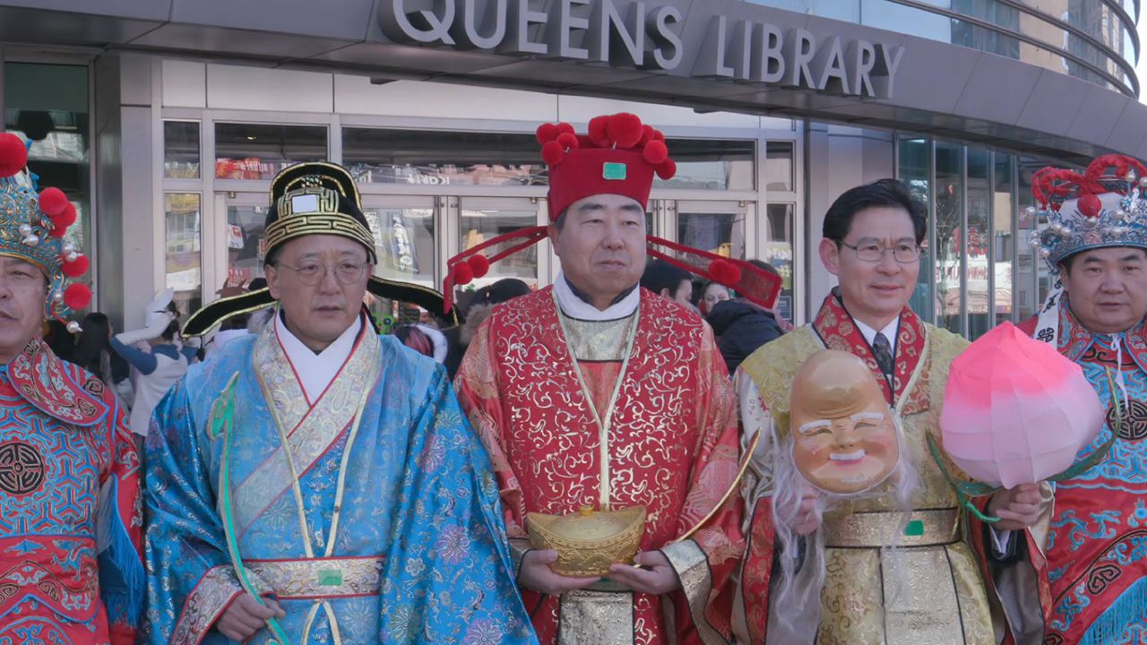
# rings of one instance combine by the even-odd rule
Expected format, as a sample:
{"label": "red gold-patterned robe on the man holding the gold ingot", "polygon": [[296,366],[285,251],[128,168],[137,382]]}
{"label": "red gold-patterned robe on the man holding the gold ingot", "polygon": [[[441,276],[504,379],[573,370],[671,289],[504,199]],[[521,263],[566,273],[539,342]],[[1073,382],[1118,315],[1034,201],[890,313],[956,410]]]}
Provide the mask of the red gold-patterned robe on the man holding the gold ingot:
{"label": "red gold-patterned robe on the man holding the gold ingot", "polygon": [[[731,575],[742,549],[739,495],[692,539],[673,544],[713,510],[736,476],[736,403],[712,331],[641,289],[621,374],[618,360],[575,364],[559,316],[552,288],[497,306],[455,380],[490,451],[512,542],[526,537],[528,512],[598,506],[604,481],[611,507],[647,508],[641,549],[663,550],[682,582],[681,591],[665,597],[632,595],[625,629],[633,642],[728,642]],[[606,409],[618,378],[610,415]],[[608,433],[599,432],[591,406],[601,419],[611,417]],[[697,557],[688,557],[690,549]],[[523,597],[540,642],[556,643],[560,599],[525,589]]]}

